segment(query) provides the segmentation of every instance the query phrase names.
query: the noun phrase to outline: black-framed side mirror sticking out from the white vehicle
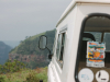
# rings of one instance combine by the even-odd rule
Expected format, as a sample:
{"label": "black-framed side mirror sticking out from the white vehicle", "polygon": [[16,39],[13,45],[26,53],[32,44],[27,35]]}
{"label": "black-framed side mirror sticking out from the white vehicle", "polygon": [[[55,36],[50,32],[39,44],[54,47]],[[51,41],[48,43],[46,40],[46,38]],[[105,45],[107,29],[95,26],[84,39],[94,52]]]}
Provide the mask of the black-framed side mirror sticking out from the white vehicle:
{"label": "black-framed side mirror sticking out from the white vehicle", "polygon": [[42,35],[38,40],[38,48],[46,49],[47,48],[46,46],[47,46],[47,37],[45,35]]}

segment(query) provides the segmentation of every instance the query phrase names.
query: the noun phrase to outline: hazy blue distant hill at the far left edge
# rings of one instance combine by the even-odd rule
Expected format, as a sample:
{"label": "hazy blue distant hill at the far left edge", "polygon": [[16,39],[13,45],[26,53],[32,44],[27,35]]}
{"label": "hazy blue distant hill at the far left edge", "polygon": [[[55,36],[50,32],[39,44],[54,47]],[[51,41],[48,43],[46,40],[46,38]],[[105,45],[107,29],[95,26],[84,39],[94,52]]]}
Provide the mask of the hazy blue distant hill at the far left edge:
{"label": "hazy blue distant hill at the far left edge", "polygon": [[0,65],[3,65],[9,58],[9,51],[12,47],[6,45],[3,42],[0,42]]}

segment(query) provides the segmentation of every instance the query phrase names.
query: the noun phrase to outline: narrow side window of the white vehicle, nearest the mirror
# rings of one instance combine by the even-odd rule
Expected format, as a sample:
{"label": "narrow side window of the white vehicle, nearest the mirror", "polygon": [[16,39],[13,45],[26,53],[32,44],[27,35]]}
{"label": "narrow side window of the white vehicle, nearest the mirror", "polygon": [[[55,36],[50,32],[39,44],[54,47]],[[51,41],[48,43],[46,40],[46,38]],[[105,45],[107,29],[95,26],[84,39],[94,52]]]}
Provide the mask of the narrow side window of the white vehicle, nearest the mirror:
{"label": "narrow side window of the white vehicle, nearest the mirror", "polygon": [[65,45],[65,33],[62,33],[58,35],[57,48],[56,48],[56,58],[62,67],[63,67],[64,45]]}

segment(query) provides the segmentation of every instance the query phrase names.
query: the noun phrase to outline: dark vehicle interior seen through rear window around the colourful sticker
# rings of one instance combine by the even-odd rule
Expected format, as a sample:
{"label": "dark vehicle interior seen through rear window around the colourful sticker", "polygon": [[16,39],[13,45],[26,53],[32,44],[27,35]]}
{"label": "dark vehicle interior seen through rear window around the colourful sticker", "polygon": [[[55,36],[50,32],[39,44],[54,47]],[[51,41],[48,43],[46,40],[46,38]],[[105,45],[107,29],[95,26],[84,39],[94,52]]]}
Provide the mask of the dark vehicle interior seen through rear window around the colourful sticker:
{"label": "dark vehicle interior seen through rear window around the colourful sticker", "polygon": [[[88,59],[90,59],[90,58],[87,58],[87,55],[88,55],[87,43],[88,42],[105,44],[105,47],[106,47],[103,50],[105,58],[103,59],[99,58],[100,60],[102,60],[103,67],[87,66]],[[96,74],[96,72],[99,70],[106,70],[110,74],[110,19],[107,16],[89,17],[85,23],[80,47],[81,47],[81,51],[79,56],[78,72],[82,68],[89,68],[92,70],[94,74]],[[91,57],[91,60],[94,60],[92,57]],[[96,60],[98,60],[98,58]],[[96,62],[91,61],[90,63],[96,63]],[[94,80],[94,82],[97,82],[96,79]]]}

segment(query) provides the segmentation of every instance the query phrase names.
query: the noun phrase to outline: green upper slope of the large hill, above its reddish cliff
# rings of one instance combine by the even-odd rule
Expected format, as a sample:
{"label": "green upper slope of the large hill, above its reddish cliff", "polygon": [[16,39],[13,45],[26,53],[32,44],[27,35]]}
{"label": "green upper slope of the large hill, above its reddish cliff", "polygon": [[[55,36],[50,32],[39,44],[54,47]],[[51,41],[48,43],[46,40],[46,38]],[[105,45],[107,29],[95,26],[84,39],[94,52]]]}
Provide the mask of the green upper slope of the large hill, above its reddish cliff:
{"label": "green upper slope of the large hill, above its reddish cliff", "polygon": [[10,54],[21,54],[21,55],[44,55],[47,52],[41,51],[38,49],[38,39],[41,35],[46,35],[47,36],[47,46],[52,50],[53,43],[54,43],[54,35],[55,35],[55,30],[53,31],[47,31],[44,33],[41,33],[38,35],[30,36],[25,38],[24,40],[21,42],[19,46],[16,46],[14,49],[10,51]]}

